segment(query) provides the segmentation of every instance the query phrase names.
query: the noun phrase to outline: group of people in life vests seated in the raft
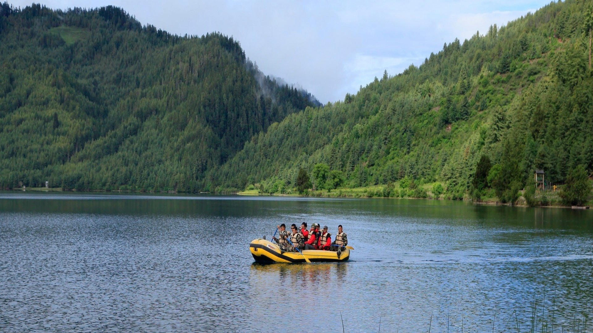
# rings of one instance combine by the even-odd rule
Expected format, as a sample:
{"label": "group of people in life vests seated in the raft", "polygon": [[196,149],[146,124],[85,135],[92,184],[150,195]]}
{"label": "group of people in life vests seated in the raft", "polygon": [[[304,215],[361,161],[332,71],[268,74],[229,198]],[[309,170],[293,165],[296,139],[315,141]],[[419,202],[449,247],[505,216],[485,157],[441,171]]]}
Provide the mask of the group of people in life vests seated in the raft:
{"label": "group of people in life vests seated in the raft", "polygon": [[301,228],[293,223],[291,232],[286,230],[286,225],[282,223],[278,226],[278,238],[272,239],[278,243],[281,251],[297,252],[304,249],[319,249],[325,251],[337,251],[337,257],[342,254],[342,249],[348,245],[348,238],[342,229],[342,225],[337,226],[336,239],[331,241],[331,234],[327,232],[327,226],[319,229],[318,223],[311,225],[311,230],[307,230],[307,222],[301,224]]}

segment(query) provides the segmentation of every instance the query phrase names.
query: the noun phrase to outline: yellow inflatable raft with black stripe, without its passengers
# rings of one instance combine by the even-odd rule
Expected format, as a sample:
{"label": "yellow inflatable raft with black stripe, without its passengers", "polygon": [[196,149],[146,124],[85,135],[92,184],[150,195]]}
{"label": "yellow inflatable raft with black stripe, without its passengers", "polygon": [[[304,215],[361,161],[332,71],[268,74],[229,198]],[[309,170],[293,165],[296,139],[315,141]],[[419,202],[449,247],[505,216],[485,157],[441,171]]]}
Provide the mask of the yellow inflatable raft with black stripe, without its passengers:
{"label": "yellow inflatable raft with black stripe, without its passengers", "polygon": [[336,251],[303,250],[300,252],[280,251],[278,244],[266,239],[254,239],[249,244],[251,255],[257,262],[305,262],[305,258],[312,262],[346,261],[350,257],[350,250],[342,249],[340,257]]}

